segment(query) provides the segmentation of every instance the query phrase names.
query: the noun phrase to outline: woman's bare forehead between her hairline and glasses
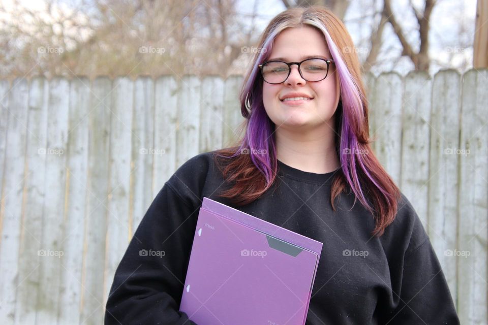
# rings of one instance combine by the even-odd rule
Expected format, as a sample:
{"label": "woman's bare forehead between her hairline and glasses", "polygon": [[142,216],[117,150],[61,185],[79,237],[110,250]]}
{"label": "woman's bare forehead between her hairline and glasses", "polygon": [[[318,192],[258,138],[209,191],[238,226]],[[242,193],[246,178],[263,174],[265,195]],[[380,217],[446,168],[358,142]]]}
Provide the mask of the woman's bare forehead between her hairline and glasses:
{"label": "woman's bare forehead between her hairline and glasses", "polygon": [[309,56],[330,58],[330,52],[322,32],[305,25],[280,32],[273,42],[268,60],[282,58],[296,61]]}

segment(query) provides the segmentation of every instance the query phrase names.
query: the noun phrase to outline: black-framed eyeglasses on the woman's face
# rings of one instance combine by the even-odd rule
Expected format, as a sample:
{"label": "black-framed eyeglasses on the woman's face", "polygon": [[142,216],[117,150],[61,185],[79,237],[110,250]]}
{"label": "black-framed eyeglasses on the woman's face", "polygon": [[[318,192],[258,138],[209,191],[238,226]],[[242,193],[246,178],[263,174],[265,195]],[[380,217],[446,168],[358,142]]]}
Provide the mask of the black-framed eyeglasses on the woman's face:
{"label": "black-framed eyeglasses on the woman's face", "polygon": [[270,84],[285,82],[290,76],[291,66],[296,64],[300,76],[307,81],[321,81],[329,73],[329,65],[332,59],[311,58],[301,62],[267,61],[259,64],[264,81]]}

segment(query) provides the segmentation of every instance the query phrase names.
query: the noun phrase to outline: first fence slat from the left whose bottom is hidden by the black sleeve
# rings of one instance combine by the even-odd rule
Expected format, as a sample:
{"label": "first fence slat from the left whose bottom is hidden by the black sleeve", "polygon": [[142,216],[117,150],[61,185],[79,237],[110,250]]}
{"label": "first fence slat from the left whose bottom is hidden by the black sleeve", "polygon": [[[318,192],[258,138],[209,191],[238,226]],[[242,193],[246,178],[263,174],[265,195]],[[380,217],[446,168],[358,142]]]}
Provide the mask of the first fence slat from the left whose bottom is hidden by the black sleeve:
{"label": "first fence slat from the left whose bottom is hidden by the black sleeve", "polygon": [[[107,301],[115,269],[129,243],[129,193],[131,177],[132,105],[134,84],[127,77],[113,82],[110,125],[110,168],[108,219],[105,248],[105,285]],[[134,270],[137,266],[134,267]]]}

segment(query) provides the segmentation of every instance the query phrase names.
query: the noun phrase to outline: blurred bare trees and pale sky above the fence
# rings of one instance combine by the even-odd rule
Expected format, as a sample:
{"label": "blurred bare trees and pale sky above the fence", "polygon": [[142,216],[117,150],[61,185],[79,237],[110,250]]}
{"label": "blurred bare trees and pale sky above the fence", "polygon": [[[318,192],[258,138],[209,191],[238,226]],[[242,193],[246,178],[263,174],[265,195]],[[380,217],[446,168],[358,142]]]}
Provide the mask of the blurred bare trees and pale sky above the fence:
{"label": "blurred bare trees and pale sky above the fence", "polygon": [[269,20],[310,5],[344,20],[374,73],[464,72],[488,27],[475,0],[2,0],[0,78],[242,74]]}

